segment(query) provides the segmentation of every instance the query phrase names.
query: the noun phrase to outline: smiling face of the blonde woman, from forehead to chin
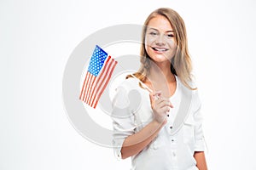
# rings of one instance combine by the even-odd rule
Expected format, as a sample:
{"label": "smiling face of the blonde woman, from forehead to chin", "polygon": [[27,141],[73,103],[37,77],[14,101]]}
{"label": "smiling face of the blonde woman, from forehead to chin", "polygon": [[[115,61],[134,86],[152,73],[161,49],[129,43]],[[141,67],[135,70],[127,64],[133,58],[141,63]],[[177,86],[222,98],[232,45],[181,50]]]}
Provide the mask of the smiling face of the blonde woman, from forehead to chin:
{"label": "smiling face of the blonde woman, from forehead to chin", "polygon": [[145,35],[145,48],[155,62],[171,61],[176,52],[172,25],[166,17],[157,15],[149,20]]}

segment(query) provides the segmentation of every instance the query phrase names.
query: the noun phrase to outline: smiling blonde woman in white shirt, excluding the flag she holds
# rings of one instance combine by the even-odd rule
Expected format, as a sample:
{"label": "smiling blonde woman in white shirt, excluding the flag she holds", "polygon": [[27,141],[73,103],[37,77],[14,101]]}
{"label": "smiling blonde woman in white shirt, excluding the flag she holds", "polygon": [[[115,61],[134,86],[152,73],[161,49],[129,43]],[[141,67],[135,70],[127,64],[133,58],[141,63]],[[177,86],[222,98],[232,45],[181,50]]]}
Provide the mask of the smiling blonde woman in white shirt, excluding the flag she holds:
{"label": "smiling blonde woman in white shirt, excluding the flag she holds", "polygon": [[201,101],[177,12],[159,8],[149,14],[141,56],[141,68],[113,99],[116,155],[131,156],[132,169],[207,169]]}

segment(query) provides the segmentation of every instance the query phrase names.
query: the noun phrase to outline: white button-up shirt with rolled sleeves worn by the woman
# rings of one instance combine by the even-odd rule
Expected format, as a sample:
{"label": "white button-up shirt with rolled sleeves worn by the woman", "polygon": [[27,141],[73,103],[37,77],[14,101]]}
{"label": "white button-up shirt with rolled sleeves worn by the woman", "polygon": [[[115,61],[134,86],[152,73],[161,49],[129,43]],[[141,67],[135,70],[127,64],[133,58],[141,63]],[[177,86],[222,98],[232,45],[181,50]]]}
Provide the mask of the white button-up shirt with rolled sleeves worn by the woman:
{"label": "white button-up shirt with rolled sleeves worn by the woman", "polygon": [[[174,108],[157,137],[136,156],[131,156],[134,170],[196,170],[195,151],[204,151],[201,101],[197,90],[189,90],[177,80],[170,98]],[[149,93],[137,79],[128,78],[119,85],[113,99],[113,147],[121,158],[122,144],[153,120]],[[189,97],[190,96],[190,97]],[[187,108],[187,109],[185,109]],[[180,111],[179,111],[180,110]],[[177,114],[178,113],[178,114]]]}

